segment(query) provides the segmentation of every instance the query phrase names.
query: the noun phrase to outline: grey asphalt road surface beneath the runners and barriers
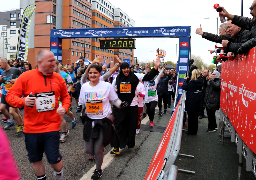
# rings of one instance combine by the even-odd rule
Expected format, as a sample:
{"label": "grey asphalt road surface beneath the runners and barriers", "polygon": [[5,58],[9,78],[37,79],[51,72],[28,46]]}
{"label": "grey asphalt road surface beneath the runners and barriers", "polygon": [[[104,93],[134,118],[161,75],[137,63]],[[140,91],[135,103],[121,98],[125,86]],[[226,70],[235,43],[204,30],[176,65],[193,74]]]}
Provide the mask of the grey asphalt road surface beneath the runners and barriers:
{"label": "grey asphalt road surface beneath the runners and barriers", "polygon": [[[72,112],[74,113],[76,105],[72,105],[72,107]],[[171,111],[171,108],[168,108],[168,111]],[[21,113],[23,114],[23,111]],[[74,115],[77,118],[79,116],[76,113]],[[0,118],[2,117],[3,115],[0,114]],[[171,114],[169,113],[162,116],[156,113],[154,125],[166,126],[170,117]],[[71,122],[68,122],[71,119],[66,115],[65,119],[70,133],[66,142],[60,143],[59,148],[63,157],[64,176],[67,180],[79,180],[93,168],[95,161],[89,160],[89,155],[84,152],[83,125],[77,123],[75,128],[71,128]],[[219,118],[216,119],[218,124]],[[77,120],[81,122],[80,118]],[[207,119],[199,119],[198,135],[196,136],[187,135],[186,132],[182,133],[180,153],[194,155],[195,158],[178,157],[175,165],[180,169],[192,170],[196,173],[178,172],[177,179],[237,179],[239,155],[236,153],[236,144],[230,142],[230,138],[225,138],[224,145],[221,145],[221,137],[218,132],[205,131],[207,123]],[[1,122],[0,124],[2,127],[5,126],[5,123]],[[24,135],[15,136],[15,126],[5,130],[5,132],[9,136],[11,147],[22,175],[21,179],[36,179],[28,160]],[[114,158],[109,163],[107,158],[104,159],[103,163],[106,162],[107,166],[103,169],[103,175],[100,179],[143,179],[162,135],[163,133],[159,132],[140,131],[140,134],[136,135],[136,146],[134,148],[127,149],[126,147],[121,151],[120,155],[111,155],[111,158]],[[110,145],[108,145],[104,155],[107,156],[111,149]],[[55,179],[45,155],[43,161],[47,179]],[[91,177],[92,174],[89,173],[89,175]],[[242,176],[243,179],[256,179],[252,172],[245,170],[245,167]]]}

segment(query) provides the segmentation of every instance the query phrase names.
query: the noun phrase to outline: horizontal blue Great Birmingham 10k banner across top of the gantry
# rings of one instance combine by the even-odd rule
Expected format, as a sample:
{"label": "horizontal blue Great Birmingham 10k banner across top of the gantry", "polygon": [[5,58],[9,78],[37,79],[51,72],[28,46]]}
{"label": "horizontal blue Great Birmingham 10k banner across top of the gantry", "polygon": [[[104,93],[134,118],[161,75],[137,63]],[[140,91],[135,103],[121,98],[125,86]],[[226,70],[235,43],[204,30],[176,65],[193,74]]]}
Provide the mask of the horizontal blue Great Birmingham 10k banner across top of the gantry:
{"label": "horizontal blue Great Birmingham 10k banner across top of the gantry", "polygon": [[51,38],[108,37],[183,37],[190,36],[190,26],[51,29]]}

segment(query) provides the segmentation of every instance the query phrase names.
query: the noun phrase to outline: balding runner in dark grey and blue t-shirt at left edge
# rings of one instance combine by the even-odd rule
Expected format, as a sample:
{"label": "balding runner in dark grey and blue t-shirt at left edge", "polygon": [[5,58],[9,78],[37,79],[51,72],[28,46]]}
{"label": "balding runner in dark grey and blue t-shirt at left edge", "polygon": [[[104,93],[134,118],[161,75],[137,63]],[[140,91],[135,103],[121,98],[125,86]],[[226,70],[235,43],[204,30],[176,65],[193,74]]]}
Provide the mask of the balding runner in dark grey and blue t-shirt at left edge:
{"label": "balding runner in dark grey and blue t-shirt at left edge", "polygon": [[[7,91],[9,91],[19,75],[22,74],[22,71],[19,68],[11,67],[8,60],[6,58],[1,58],[0,59],[0,68],[2,68],[4,71],[2,72],[2,77],[0,78],[0,81],[4,83],[3,87],[3,93],[1,96],[1,111],[4,114],[4,116],[7,118],[7,124],[4,126],[4,129],[9,129],[11,126],[14,125],[13,119],[10,117],[9,113],[13,116],[15,119],[17,126],[16,126],[16,135],[23,134],[23,121],[22,117],[20,115],[20,111],[18,108],[9,105],[9,113],[6,110],[6,101],[5,101],[5,96]],[[22,95],[21,95],[22,96]]]}

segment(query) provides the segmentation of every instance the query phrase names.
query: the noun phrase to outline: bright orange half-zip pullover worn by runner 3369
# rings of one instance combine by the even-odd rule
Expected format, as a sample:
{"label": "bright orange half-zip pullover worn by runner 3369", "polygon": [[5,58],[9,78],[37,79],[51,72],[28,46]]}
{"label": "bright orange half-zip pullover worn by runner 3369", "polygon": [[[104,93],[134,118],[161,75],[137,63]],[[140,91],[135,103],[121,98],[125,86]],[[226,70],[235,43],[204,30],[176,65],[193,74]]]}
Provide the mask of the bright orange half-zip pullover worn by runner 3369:
{"label": "bright orange half-zip pullover worn by runner 3369", "polygon": [[[54,91],[55,109],[46,112],[37,112],[36,106],[33,108],[25,106],[25,97],[30,92],[40,93]],[[24,98],[20,98],[24,95]],[[71,104],[70,95],[67,91],[66,82],[60,74],[53,72],[43,76],[38,69],[33,69],[22,73],[13,87],[7,92],[6,102],[13,107],[24,106],[24,132],[25,133],[44,133],[59,131],[61,119],[56,113],[59,107],[59,100],[66,112]]]}

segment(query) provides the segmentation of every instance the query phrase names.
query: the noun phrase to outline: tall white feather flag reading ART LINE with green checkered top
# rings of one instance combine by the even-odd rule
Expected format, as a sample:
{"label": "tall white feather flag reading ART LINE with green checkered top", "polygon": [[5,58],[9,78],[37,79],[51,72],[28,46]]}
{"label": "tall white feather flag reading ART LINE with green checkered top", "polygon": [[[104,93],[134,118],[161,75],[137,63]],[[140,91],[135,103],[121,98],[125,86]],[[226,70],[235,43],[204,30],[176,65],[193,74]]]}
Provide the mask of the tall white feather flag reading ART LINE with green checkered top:
{"label": "tall white feather flag reading ART LINE with green checkered top", "polygon": [[28,32],[30,27],[31,16],[35,11],[35,8],[35,5],[29,5],[28,7],[26,7],[22,15],[16,53],[16,58],[18,58],[18,60],[21,59],[22,61],[26,61],[28,57]]}

